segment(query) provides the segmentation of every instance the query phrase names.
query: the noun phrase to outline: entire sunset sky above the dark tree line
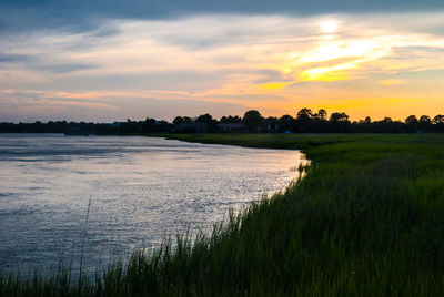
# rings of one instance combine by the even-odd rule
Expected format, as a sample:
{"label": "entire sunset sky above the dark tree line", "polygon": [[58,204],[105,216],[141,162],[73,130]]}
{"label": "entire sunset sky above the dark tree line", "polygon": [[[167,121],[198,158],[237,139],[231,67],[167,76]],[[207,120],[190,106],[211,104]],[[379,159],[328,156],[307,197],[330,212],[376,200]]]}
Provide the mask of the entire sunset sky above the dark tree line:
{"label": "entire sunset sky above the dark tree line", "polygon": [[442,0],[2,0],[0,122],[444,114]]}

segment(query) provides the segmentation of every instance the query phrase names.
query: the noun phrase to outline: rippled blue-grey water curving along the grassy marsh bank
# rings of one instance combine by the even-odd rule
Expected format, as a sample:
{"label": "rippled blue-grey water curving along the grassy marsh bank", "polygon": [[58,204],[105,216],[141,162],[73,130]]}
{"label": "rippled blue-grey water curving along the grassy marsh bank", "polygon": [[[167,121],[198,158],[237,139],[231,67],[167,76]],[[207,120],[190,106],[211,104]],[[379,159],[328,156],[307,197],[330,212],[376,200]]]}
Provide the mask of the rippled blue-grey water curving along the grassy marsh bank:
{"label": "rippled blue-grey water curving along the grassy marsh bank", "polygon": [[209,232],[229,208],[283,190],[297,151],[138,136],[0,134],[0,267],[87,267],[168,234]]}

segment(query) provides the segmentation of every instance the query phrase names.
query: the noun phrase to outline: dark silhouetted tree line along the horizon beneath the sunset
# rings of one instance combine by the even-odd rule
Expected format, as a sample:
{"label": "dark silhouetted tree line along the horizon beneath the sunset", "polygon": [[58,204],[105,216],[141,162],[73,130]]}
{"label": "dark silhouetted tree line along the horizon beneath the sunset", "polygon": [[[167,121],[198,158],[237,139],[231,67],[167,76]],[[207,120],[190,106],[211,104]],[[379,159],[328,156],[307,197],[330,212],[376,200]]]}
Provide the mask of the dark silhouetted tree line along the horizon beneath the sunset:
{"label": "dark silhouetted tree line along the horizon beneath the sunset", "polygon": [[444,115],[433,119],[422,115],[407,116],[404,121],[384,117],[372,121],[370,116],[360,121],[350,121],[344,112],[327,114],[323,109],[313,112],[301,109],[295,116],[264,117],[256,110],[239,115],[222,116],[220,120],[210,114],[196,117],[176,116],[172,122],[147,117],[144,121],[85,123],[49,121],[47,123],[0,123],[0,133],[65,133],[65,134],[145,134],[145,133],[444,133]]}

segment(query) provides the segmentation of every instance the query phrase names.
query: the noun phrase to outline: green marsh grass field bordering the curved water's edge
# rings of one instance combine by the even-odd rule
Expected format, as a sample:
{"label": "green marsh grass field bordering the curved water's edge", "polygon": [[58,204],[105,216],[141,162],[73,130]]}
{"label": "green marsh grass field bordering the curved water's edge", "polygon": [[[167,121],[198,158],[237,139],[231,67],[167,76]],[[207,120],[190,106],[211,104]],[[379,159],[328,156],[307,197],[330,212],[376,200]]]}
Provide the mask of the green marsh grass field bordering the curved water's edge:
{"label": "green marsh grass field bordering the curved water's edge", "polygon": [[302,148],[306,176],[232,214],[71,281],[0,275],[3,296],[443,296],[444,135],[169,135]]}

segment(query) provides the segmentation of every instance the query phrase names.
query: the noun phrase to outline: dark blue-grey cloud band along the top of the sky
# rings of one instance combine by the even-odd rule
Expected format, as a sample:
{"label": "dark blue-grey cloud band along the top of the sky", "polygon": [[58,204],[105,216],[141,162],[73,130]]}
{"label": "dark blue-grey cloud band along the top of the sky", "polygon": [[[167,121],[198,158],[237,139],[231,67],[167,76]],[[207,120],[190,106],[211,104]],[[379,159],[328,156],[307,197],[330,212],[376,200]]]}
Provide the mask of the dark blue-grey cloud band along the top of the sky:
{"label": "dark blue-grey cloud band along the top of the sky", "polygon": [[442,0],[2,0],[0,30],[64,28],[81,31],[103,19],[168,19],[208,13],[313,16],[418,12],[444,9]]}

